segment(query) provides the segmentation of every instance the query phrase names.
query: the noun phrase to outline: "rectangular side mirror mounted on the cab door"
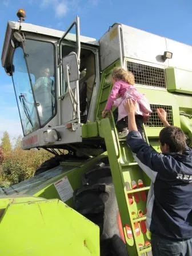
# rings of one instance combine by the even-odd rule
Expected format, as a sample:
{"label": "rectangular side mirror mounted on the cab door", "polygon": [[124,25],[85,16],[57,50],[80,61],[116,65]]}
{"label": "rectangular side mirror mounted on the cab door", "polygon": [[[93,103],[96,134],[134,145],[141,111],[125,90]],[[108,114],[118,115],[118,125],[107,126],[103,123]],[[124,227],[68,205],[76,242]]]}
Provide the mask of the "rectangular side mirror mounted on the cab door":
{"label": "rectangular side mirror mounted on the cab door", "polygon": [[[62,67],[64,79],[67,82],[67,75],[69,75],[69,82],[79,80],[79,69],[77,62],[77,54],[74,51],[62,58]],[[67,74],[68,73],[68,74]]]}

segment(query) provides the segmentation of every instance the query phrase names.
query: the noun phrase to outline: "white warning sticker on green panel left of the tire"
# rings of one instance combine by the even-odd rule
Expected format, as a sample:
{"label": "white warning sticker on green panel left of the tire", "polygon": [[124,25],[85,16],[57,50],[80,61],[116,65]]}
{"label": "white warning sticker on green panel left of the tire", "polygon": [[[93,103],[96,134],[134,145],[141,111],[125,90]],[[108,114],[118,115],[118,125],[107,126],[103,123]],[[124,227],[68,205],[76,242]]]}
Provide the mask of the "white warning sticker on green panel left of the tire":
{"label": "white warning sticker on green panel left of the tire", "polygon": [[63,202],[73,197],[73,189],[67,176],[54,183],[55,189]]}

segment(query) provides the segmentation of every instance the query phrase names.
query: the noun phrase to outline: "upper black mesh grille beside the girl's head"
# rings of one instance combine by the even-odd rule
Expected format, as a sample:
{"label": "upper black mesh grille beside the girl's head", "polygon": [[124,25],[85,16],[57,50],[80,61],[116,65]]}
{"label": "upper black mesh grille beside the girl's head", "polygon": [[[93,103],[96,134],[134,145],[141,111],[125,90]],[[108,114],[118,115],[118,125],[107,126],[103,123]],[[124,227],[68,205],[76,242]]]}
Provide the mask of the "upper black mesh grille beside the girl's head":
{"label": "upper black mesh grille beside the girl's head", "polygon": [[135,77],[135,83],[166,88],[165,70],[127,61],[127,70]]}

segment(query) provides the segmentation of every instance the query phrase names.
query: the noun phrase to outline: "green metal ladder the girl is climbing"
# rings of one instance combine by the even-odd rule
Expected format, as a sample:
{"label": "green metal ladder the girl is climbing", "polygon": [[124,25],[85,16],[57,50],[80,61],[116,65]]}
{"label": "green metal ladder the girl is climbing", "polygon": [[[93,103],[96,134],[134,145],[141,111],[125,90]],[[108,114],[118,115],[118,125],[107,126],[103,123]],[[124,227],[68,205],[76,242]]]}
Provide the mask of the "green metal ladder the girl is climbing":
{"label": "green metal ladder the girl is climbing", "polygon": [[119,207],[117,221],[121,237],[129,256],[151,256],[150,233],[146,229],[146,192],[150,179],[134,161],[126,139],[118,139],[113,114],[101,119],[99,125],[105,138]]}

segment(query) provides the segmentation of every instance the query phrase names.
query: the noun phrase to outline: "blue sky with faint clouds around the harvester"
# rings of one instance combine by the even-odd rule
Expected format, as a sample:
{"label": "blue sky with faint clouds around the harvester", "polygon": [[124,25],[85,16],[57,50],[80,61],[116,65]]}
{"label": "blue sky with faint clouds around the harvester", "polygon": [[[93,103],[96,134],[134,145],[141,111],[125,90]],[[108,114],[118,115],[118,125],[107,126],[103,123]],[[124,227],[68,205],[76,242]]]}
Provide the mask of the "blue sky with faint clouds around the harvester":
{"label": "blue sky with faint clouds around the harvester", "polygon": [[[26,10],[26,22],[65,30],[75,15],[81,34],[99,39],[115,22],[137,27],[192,45],[191,0],[0,0],[0,50],[8,20],[17,21],[17,10]],[[0,137],[22,134],[11,78],[0,67]]]}

